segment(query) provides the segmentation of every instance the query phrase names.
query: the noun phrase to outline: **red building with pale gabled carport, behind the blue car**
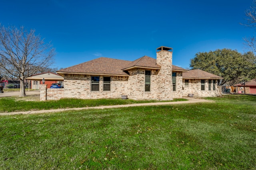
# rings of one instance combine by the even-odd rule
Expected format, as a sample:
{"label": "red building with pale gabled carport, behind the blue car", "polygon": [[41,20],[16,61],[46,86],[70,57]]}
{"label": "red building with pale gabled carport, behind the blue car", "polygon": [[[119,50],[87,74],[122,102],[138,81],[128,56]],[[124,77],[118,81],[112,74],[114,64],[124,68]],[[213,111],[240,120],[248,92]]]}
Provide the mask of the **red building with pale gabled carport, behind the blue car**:
{"label": "red building with pale gabled carport, behind the blue car", "polygon": [[29,87],[31,86],[31,89],[40,89],[40,84],[43,84],[42,83],[43,78],[45,80],[44,84],[47,84],[47,88],[50,88],[52,83],[63,84],[63,80],[64,80],[62,76],[60,76],[59,74],[55,74],[53,72],[43,72],[39,74],[34,74],[25,79],[31,80],[31,82],[29,81],[29,85],[28,85]]}

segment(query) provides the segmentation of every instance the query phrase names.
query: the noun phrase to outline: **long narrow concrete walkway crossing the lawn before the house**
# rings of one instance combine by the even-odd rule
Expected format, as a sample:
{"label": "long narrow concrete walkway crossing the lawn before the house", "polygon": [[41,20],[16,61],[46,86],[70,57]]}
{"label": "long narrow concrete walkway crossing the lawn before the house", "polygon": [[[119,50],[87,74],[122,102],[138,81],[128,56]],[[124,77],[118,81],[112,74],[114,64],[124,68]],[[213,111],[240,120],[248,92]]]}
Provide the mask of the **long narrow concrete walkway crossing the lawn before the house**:
{"label": "long narrow concrete walkway crossing the lawn before the house", "polygon": [[50,113],[50,112],[61,112],[61,111],[82,110],[82,109],[107,109],[107,108],[118,108],[118,107],[156,106],[156,105],[174,105],[174,104],[214,102],[214,101],[211,101],[211,100],[196,99],[196,98],[186,98],[186,99],[188,99],[188,101],[126,104],[126,105],[114,105],[114,106],[80,107],[80,108],[67,108],[67,109],[37,110],[37,111],[17,111],[17,112],[0,113],[0,115],[35,114],[35,113]]}

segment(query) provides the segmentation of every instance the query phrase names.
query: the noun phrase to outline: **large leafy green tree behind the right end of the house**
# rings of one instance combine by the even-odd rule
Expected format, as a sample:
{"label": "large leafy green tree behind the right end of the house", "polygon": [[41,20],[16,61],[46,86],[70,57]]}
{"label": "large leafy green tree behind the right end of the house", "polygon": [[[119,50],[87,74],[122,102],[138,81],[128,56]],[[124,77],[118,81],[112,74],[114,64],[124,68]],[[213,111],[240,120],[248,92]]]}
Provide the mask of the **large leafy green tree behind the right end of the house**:
{"label": "large leafy green tree behind the right end of the house", "polygon": [[234,85],[255,77],[255,60],[252,52],[241,54],[236,50],[217,49],[196,53],[194,59],[190,60],[190,67],[223,77],[221,84]]}

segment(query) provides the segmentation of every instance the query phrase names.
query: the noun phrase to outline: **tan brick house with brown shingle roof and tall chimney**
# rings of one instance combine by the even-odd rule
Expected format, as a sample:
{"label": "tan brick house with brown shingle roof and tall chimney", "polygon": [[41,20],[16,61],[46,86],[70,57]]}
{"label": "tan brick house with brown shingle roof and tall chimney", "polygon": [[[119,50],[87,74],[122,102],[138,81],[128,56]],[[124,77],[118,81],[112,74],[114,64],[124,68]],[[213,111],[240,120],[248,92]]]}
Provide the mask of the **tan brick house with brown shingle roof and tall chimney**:
{"label": "tan brick house with brown shingle roof and tall chimney", "polygon": [[[125,61],[100,57],[58,70],[57,73],[64,77],[64,89],[46,90],[41,86],[41,100],[121,98],[122,95],[134,100],[172,100],[187,96],[188,92],[198,96],[218,95],[217,83],[213,84],[213,80],[210,81],[211,90],[199,93],[201,85],[195,82],[200,79],[186,77],[189,90],[183,78],[183,74],[189,72],[172,65],[172,48],[169,47],[157,48],[156,59],[144,56]],[[202,78],[205,86],[210,79],[222,79],[215,75]]]}

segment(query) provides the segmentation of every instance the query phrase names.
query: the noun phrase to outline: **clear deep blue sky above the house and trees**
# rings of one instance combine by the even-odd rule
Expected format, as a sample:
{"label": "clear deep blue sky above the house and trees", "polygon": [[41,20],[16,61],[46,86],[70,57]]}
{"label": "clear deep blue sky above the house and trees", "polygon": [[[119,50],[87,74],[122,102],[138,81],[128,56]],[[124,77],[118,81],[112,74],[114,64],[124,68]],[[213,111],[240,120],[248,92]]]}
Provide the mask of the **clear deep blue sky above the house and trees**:
{"label": "clear deep blue sky above the house and trees", "polygon": [[98,57],[133,61],[173,48],[173,64],[189,68],[198,52],[243,53],[254,35],[244,11],[252,0],[1,0],[0,23],[23,25],[51,41],[52,67]]}

